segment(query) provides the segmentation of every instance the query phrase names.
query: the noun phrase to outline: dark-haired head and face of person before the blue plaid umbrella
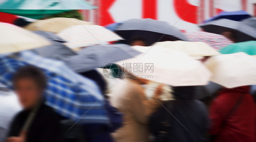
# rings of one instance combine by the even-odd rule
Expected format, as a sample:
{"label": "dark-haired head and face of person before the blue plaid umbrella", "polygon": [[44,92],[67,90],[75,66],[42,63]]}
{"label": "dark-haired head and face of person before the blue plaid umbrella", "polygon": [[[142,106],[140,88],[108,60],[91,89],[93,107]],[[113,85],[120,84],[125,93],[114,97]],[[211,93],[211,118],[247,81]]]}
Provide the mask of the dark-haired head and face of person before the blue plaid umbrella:
{"label": "dark-haired head and face of person before the blue plaid umbrella", "polygon": [[33,108],[43,99],[46,76],[34,66],[23,66],[13,74],[13,88],[24,109]]}

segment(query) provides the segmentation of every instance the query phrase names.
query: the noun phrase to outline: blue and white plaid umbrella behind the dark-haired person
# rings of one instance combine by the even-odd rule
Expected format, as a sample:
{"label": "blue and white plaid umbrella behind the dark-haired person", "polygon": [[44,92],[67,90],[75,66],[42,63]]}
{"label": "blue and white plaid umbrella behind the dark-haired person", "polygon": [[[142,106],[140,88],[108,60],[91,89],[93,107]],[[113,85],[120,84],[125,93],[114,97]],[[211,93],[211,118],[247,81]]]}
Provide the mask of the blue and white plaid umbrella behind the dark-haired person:
{"label": "blue and white plaid umbrella behind the dark-haired person", "polygon": [[[12,74],[21,66],[34,65],[43,69],[48,78],[46,104],[57,113],[80,123],[109,124],[104,98],[90,79],[74,73],[64,63],[40,57],[31,51],[16,58],[0,57],[0,82],[12,87]],[[22,60],[22,61],[21,61]]]}

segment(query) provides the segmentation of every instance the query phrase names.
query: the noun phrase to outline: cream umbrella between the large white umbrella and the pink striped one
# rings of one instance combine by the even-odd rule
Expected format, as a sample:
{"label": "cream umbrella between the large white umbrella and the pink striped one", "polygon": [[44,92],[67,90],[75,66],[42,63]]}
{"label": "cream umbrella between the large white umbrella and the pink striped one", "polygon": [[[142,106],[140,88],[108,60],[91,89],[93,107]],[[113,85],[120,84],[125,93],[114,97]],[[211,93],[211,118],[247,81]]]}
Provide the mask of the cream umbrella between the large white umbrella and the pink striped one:
{"label": "cream umbrella between the large white umbrella and the pink striped one", "polygon": [[157,42],[154,45],[171,50],[183,51],[190,56],[214,56],[220,54],[218,51],[214,50],[210,45],[204,42],[166,41]]}

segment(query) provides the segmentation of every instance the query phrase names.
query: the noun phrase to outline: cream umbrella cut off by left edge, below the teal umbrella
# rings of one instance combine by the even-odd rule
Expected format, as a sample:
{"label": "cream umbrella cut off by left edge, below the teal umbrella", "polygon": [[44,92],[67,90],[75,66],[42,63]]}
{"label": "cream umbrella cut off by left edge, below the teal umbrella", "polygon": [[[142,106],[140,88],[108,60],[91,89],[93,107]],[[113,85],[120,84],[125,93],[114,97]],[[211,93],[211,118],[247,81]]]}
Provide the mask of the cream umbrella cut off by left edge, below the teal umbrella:
{"label": "cream umbrella cut off by left edge, below the teal umbrella", "polygon": [[0,23],[0,53],[19,52],[50,45],[43,37],[18,26]]}

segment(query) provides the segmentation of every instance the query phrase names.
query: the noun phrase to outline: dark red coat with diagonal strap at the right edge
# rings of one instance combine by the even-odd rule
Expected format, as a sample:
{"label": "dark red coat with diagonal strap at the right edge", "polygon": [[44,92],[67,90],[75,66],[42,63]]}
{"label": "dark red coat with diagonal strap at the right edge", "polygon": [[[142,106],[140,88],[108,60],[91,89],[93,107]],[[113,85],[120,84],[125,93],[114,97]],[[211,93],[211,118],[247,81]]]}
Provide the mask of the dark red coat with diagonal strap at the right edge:
{"label": "dark red coat with diagonal strap at the right edge", "polygon": [[[249,86],[224,89],[213,101],[210,106],[210,134],[217,135],[215,142],[256,141],[256,106],[252,95],[248,92]],[[244,94],[242,102],[225,120],[242,94]]]}

